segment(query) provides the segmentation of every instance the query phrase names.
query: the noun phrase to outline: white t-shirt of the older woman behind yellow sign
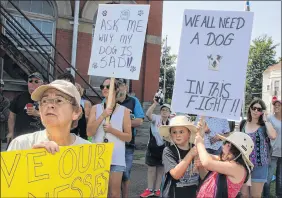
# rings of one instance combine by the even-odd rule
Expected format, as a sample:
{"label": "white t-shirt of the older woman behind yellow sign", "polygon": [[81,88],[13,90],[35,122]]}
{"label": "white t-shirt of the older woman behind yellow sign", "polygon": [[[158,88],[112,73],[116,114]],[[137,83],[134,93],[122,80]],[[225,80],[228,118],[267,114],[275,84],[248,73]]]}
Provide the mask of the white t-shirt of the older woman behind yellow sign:
{"label": "white t-shirt of the older woman behind yellow sign", "polygon": [[[73,133],[72,133],[72,135],[75,136],[75,141],[70,146],[74,146],[74,145],[78,145],[78,144],[91,144],[91,142],[84,140],[81,137],[78,137]],[[7,151],[32,149],[32,146],[34,144],[39,144],[40,142],[43,142],[43,141],[50,141],[47,137],[46,130],[36,131],[34,133],[21,135],[21,136],[18,136],[17,138],[15,138],[10,143]]]}

